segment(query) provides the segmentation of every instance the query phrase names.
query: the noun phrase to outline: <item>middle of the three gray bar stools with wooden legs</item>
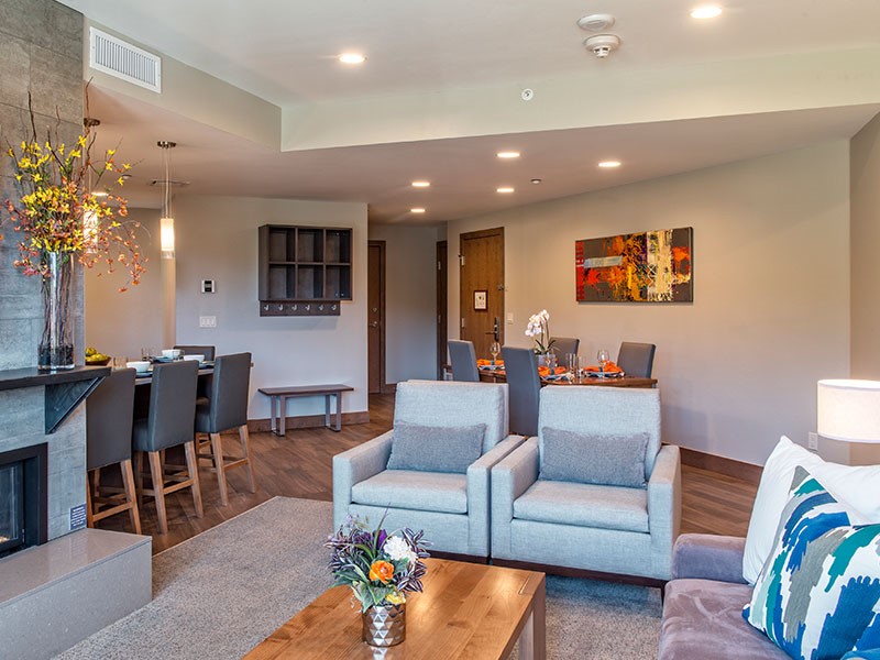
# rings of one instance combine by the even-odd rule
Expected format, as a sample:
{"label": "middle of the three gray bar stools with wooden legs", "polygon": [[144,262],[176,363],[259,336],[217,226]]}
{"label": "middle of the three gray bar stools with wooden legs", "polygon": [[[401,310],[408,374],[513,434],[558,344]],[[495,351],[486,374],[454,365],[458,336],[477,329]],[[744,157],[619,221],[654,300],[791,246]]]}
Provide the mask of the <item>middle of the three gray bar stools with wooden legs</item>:
{"label": "middle of the three gray bar stools with wooden legs", "polygon": [[[138,454],[139,491],[156,499],[160,534],[168,532],[165,495],[191,488],[196,515],[199,518],[204,516],[193,433],[198,372],[199,365],[191,361],[154,365],[150,408],[145,418],[134,420],[132,428],[132,449],[146,453],[152,481],[152,488],[143,486],[143,454]],[[163,463],[161,452],[180,446],[184,448],[186,465]]]}

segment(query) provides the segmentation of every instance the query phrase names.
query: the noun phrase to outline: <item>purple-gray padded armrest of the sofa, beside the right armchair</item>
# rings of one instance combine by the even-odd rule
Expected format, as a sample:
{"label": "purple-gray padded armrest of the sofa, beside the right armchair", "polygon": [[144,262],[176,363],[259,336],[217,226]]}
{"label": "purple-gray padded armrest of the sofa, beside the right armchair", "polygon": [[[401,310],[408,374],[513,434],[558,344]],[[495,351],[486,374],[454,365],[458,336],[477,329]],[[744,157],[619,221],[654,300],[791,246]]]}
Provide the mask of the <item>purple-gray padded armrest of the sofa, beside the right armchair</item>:
{"label": "purple-gray padded armrest of the sofa, beside the right armchair", "polygon": [[743,580],[745,548],[743,537],[683,534],[672,552],[672,576],[746,584]]}

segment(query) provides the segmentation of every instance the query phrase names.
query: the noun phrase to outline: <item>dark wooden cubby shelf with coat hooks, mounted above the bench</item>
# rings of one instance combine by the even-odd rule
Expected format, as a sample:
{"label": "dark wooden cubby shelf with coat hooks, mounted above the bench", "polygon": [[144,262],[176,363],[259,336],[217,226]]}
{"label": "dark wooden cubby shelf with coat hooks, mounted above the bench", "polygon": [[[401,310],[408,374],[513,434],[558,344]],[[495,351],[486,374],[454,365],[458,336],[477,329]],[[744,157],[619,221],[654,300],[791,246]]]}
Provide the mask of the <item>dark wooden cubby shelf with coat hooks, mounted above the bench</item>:
{"label": "dark wooden cubby shelf with coat hooks, mounted above the bench", "polygon": [[260,228],[260,316],[339,316],[351,300],[352,230]]}

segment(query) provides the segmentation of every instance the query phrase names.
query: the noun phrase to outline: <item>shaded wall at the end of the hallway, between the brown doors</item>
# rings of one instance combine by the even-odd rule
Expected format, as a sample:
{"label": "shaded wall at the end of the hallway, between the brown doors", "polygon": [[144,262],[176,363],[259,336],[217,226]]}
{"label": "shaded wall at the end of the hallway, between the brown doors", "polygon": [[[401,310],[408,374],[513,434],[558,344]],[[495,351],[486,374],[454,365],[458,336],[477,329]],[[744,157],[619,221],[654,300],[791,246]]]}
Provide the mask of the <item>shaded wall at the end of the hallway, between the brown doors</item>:
{"label": "shaded wall at the end of the hallway, between the brown doors", "polygon": [[437,377],[437,241],[430,227],[374,224],[385,241],[385,382]]}

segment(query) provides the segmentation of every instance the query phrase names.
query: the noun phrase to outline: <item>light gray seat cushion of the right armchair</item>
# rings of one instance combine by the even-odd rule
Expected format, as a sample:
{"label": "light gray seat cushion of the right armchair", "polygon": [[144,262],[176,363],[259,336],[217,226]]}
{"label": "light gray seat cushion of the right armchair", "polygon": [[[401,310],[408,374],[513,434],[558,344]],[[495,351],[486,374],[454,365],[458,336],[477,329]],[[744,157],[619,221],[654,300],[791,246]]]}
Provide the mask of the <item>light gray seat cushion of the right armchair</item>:
{"label": "light gray seat cushion of the right armchair", "polygon": [[648,494],[644,488],[538,480],[514,502],[514,518],[648,532]]}

